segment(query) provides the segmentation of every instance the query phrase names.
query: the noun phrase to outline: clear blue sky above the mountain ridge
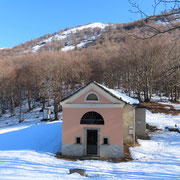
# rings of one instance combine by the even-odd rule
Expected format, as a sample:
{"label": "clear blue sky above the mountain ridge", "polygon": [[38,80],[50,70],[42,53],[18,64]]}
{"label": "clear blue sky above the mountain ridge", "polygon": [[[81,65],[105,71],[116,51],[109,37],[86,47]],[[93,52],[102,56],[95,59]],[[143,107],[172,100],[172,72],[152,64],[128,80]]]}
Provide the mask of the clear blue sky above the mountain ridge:
{"label": "clear blue sky above the mountain ridge", "polygon": [[[151,14],[153,0],[138,1]],[[0,0],[0,48],[13,47],[66,27],[139,19],[130,9],[128,0]]]}

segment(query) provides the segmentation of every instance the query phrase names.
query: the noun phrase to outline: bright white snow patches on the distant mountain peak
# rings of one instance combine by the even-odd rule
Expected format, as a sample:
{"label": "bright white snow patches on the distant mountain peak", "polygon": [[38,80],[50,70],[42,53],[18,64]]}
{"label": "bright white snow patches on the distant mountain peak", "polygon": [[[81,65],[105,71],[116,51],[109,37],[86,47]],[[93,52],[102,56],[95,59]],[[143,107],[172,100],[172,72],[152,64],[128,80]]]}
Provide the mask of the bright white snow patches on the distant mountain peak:
{"label": "bright white snow patches on the distant mountain peak", "polygon": [[[82,30],[88,29],[88,28],[91,28],[91,29],[100,28],[101,30],[103,30],[107,26],[108,26],[108,24],[92,23],[92,24],[88,24],[88,25],[85,25],[85,26],[80,26],[80,27],[72,28],[72,29],[63,31],[61,34],[56,34],[54,36],[49,37],[46,40],[43,40],[39,44],[33,46],[32,47],[32,51],[33,52],[37,52],[37,51],[40,50],[41,47],[45,46],[47,43],[50,43],[52,41],[62,41],[64,39],[66,39],[67,37],[69,37],[71,34],[75,34],[78,31],[82,31]],[[94,39],[94,37],[92,37],[92,39]],[[92,41],[92,40],[90,40],[90,41]],[[89,43],[89,40],[87,41],[87,39],[84,39],[84,41],[82,41],[81,43],[79,43],[77,45],[77,48],[82,48],[87,43]],[[73,49],[75,49],[75,46],[74,45],[69,45],[69,46],[65,46],[64,48],[62,48],[62,51],[69,51],[69,50],[73,50]]]}

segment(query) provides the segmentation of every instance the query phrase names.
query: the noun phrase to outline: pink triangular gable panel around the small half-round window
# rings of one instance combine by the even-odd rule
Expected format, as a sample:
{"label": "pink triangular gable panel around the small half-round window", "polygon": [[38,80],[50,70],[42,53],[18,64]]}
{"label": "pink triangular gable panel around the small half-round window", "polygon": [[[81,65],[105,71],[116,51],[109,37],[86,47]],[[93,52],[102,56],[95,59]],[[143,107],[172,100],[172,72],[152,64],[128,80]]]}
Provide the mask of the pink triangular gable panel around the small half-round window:
{"label": "pink triangular gable panel around the small half-round window", "polygon": [[[86,95],[90,92],[95,92],[96,94],[98,94],[100,102],[85,102],[84,99]],[[90,89],[88,92],[84,93],[82,96],[75,99],[71,104],[112,104],[112,102],[104,96],[102,96],[100,93],[96,92],[94,89]]]}

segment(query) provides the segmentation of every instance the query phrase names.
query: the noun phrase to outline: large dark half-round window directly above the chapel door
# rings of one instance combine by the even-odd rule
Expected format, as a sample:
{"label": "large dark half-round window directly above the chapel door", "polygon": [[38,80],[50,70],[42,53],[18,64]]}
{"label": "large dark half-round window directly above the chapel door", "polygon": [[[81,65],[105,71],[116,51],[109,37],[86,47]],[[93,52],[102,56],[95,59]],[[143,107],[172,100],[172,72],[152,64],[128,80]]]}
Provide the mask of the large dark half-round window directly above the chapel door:
{"label": "large dark half-round window directly above the chapel door", "polygon": [[96,125],[103,125],[104,124],[104,119],[103,117],[94,111],[87,112],[83,115],[81,118],[81,123],[80,124],[96,124]]}

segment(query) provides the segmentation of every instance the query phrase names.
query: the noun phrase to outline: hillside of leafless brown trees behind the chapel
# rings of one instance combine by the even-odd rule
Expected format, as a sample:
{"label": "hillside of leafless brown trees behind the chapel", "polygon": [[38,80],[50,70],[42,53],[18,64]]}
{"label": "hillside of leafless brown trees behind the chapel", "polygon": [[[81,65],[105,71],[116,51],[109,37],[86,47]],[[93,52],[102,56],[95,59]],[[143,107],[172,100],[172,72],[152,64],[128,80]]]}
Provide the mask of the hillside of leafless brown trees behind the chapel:
{"label": "hillside of leafless brown trees behind the chapel", "polygon": [[[177,100],[180,97],[179,29],[141,39],[144,34],[152,33],[142,22],[111,24],[91,46],[82,49],[3,54],[0,59],[2,113],[9,109],[13,115],[15,107],[21,108],[25,100],[31,110],[35,102],[40,101],[43,108],[53,99],[57,119],[60,100],[89,81],[122,89],[140,101],[150,101],[152,94]],[[161,23],[156,26],[163,28]]]}

